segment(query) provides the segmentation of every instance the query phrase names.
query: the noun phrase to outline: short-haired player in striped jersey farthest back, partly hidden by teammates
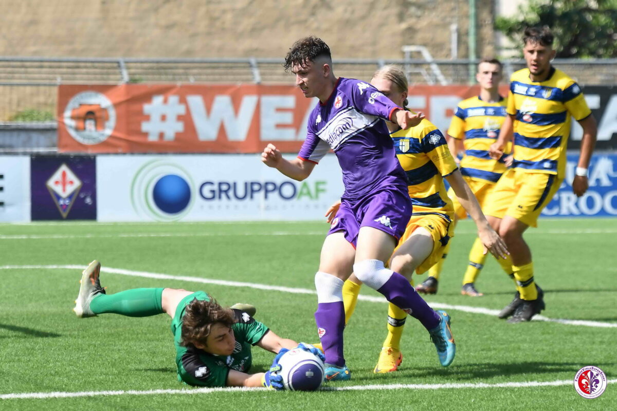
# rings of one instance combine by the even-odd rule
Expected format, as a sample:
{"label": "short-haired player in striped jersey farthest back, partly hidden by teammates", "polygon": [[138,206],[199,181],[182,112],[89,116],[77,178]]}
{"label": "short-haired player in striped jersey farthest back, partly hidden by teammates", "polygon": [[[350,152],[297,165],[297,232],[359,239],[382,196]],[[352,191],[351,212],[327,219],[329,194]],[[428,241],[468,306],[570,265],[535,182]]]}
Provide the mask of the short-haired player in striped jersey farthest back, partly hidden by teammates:
{"label": "short-haired player in striped jersey farthest back, partly hidden by teammates", "polygon": [[[478,63],[476,79],[480,86],[479,96],[465,99],[458,104],[457,111],[452,117],[452,123],[448,129],[448,146],[453,157],[456,159],[460,143],[464,145],[465,157],[460,161],[460,170],[463,179],[469,185],[471,191],[478,199],[478,203],[484,209],[486,199],[495,183],[506,170],[506,154],[502,158],[493,160],[489,155],[489,147],[497,140],[497,134],[505,119],[507,100],[499,95],[499,83],[502,79],[502,63],[497,59],[483,59]],[[509,147],[508,147],[509,149]],[[511,160],[511,157],[509,157]],[[455,219],[466,218],[466,212],[458,202],[453,190],[448,191],[454,206]],[[419,293],[434,294],[437,292],[439,275],[450,248],[450,243],[445,247],[444,255],[428,272],[428,279],[416,286]],[[463,277],[463,295],[481,296],[476,290],[474,283],[480,274],[486,254],[484,245],[479,238],[471,247],[469,264]],[[510,259],[497,259],[507,274],[511,274]]]}

